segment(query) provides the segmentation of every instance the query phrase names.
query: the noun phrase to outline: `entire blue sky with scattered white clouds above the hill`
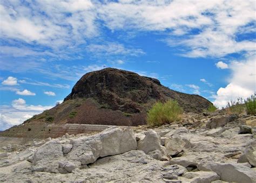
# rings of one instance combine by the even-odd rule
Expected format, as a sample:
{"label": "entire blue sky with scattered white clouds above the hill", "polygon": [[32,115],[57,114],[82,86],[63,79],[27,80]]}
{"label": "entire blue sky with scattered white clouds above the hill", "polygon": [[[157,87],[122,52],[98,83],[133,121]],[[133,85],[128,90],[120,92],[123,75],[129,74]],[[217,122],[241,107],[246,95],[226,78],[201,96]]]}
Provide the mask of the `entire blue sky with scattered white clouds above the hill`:
{"label": "entire blue sky with scattered white clouds above the hill", "polygon": [[219,107],[255,89],[255,1],[0,2],[0,130],[115,67]]}

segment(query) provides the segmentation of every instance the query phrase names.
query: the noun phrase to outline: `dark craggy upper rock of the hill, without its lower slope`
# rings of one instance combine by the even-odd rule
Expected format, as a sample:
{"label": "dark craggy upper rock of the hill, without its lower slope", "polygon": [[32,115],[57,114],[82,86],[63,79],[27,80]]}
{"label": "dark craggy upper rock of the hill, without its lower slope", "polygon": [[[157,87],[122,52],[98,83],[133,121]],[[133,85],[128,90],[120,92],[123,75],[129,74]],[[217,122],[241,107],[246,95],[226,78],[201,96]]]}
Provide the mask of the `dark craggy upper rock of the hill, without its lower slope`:
{"label": "dark craggy upper rock of the hill, without its lower slope", "polygon": [[114,68],[85,74],[64,101],[94,98],[109,109],[128,113],[145,112],[156,101],[177,100],[184,111],[201,112],[210,102],[199,95],[171,90],[157,79]]}

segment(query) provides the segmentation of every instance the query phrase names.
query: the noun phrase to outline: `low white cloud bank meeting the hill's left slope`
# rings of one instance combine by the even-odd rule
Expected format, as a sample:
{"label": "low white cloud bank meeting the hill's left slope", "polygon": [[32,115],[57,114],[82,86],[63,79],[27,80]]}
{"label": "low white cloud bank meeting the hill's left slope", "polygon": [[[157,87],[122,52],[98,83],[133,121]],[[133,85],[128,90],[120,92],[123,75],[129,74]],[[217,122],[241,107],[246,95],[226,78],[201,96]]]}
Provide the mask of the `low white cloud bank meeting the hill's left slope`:
{"label": "low white cloud bank meeting the hill's left slope", "polygon": [[1,105],[0,107],[0,130],[5,130],[13,125],[23,123],[33,115],[39,114],[53,106],[28,105],[23,98],[12,101],[11,105]]}

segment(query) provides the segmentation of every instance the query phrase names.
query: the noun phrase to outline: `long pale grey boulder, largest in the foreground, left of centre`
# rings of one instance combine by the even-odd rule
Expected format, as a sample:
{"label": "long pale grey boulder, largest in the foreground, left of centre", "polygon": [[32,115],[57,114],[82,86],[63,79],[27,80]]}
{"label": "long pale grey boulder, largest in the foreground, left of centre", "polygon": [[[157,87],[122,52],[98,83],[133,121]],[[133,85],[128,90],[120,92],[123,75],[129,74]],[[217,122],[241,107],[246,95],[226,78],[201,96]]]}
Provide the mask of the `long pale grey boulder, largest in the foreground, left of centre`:
{"label": "long pale grey boulder, largest in the foreground, left of centre", "polygon": [[73,139],[71,144],[61,144],[58,140],[44,144],[33,157],[32,170],[68,173],[75,167],[95,162],[99,157],[121,154],[136,148],[132,129],[112,126],[97,135]]}

